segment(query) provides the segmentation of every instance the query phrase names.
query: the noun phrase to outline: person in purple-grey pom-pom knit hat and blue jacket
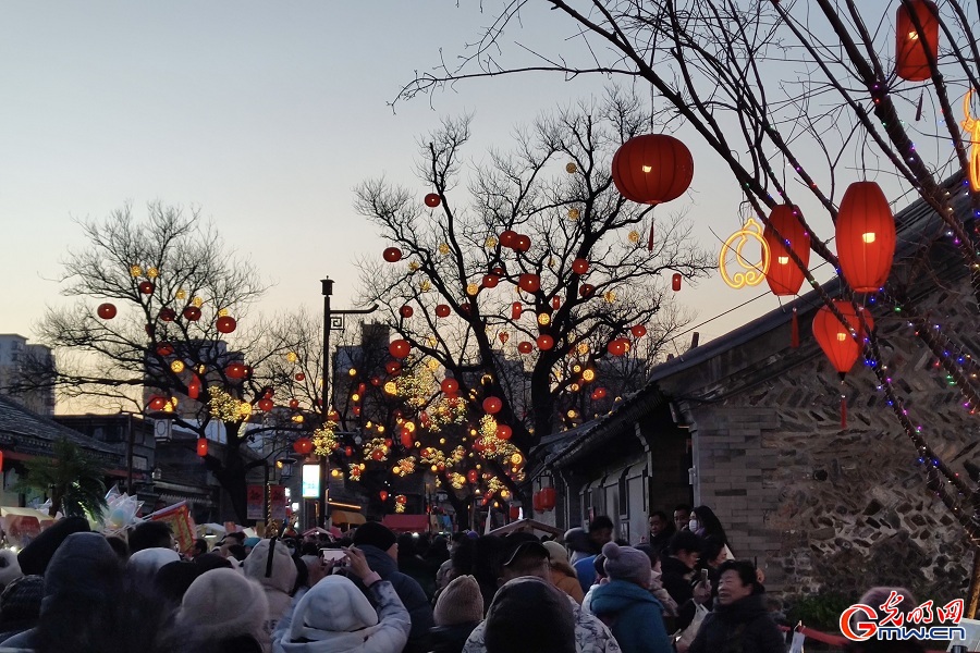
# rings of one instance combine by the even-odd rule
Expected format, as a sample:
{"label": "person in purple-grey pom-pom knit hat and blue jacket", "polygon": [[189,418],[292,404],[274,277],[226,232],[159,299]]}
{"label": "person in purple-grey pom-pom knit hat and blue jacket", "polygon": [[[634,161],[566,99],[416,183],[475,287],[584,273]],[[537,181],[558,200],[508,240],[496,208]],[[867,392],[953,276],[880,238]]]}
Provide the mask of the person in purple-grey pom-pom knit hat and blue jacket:
{"label": "person in purple-grey pom-pom knit hat and blue jacket", "polygon": [[672,653],[663,606],[650,593],[650,558],[632,546],[602,547],[609,582],[591,592],[589,609],[610,627],[623,653]]}

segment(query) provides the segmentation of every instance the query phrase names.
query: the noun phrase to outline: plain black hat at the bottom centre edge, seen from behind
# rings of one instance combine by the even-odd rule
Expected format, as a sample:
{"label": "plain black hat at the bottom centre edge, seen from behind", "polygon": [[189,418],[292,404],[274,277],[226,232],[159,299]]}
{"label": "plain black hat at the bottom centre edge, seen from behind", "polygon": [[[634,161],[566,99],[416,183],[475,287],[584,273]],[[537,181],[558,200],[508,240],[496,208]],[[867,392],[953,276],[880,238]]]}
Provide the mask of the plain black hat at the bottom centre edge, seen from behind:
{"label": "plain black hat at the bottom centre edge, seen from behind", "polygon": [[487,653],[575,653],[572,601],[540,578],[504,583],[487,612]]}

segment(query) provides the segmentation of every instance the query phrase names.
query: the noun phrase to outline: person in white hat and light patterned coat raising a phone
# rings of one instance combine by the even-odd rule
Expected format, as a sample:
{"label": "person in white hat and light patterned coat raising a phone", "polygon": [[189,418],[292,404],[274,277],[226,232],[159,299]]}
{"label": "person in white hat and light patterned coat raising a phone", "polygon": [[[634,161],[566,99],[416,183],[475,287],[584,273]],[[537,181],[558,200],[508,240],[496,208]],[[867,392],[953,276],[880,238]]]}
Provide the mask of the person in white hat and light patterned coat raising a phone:
{"label": "person in white hat and light patterned coat raising a phone", "polygon": [[277,633],[275,653],[399,653],[412,623],[394,587],[372,571],[364,552],[347,550],[352,575],[371,593],[378,608],[351,579],[332,575],[296,603],[289,625]]}

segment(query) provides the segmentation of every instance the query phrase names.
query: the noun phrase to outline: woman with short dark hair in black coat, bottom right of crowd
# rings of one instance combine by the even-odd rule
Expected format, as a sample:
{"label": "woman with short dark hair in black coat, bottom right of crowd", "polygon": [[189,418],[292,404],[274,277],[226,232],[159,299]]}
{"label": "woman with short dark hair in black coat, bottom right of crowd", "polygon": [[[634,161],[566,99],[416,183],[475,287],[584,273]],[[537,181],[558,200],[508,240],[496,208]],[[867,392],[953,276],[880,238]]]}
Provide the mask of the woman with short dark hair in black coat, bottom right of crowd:
{"label": "woman with short dark hair in black coat, bottom right of crowd", "polygon": [[785,653],[786,639],[762,602],[755,565],[728,560],[719,572],[718,604],[688,652]]}

